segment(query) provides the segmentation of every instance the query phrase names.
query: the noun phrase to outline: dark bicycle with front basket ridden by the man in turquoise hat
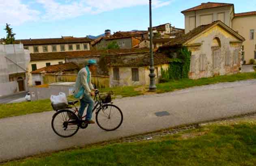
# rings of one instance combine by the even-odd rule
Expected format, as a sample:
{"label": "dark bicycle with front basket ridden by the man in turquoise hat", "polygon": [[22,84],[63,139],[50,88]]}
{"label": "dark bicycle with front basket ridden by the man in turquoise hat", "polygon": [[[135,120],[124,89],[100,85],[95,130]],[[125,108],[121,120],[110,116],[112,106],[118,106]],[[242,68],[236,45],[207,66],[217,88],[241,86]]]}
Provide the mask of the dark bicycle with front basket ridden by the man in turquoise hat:
{"label": "dark bicycle with front basket ridden by the man in turquoise hat", "polygon": [[[119,107],[113,104],[111,95],[113,95],[112,91],[108,93],[105,99],[102,99],[99,90],[96,90],[94,97],[95,107],[93,108],[93,112],[96,110],[97,125],[106,131],[116,130],[123,123],[123,113]],[[85,129],[88,127],[85,120],[82,120],[86,118],[86,115],[82,118],[78,117],[78,109],[75,106],[78,102],[69,101],[67,108],[56,110],[57,112],[54,113],[52,117],[52,129],[58,136],[65,138],[72,137],[77,133],[79,128]],[[113,122],[116,123],[113,124]]]}

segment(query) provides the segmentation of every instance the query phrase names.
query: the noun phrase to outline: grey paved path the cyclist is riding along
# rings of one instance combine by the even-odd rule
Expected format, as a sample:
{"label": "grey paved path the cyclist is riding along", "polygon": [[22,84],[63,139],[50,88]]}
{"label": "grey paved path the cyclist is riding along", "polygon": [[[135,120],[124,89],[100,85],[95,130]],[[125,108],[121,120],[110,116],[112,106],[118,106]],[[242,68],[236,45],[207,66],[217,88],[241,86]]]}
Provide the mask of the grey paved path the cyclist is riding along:
{"label": "grey paved path the cyclist is riding along", "polygon": [[[254,112],[255,91],[256,80],[249,80],[118,99],[114,103],[124,114],[123,125],[118,130],[106,132],[95,124],[67,139],[52,131],[50,122],[54,111],[1,119],[0,161]],[[158,111],[168,111],[170,116],[155,116]]]}

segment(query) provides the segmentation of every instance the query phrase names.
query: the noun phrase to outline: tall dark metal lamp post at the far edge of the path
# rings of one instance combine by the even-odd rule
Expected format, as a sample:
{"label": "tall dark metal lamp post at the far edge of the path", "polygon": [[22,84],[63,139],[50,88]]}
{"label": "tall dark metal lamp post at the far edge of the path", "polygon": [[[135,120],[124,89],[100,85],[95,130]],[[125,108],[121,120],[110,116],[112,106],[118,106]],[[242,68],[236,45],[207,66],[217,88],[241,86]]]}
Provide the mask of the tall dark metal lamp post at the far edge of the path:
{"label": "tall dark metal lamp post at the far edge of the path", "polygon": [[155,91],[157,87],[155,86],[155,67],[154,67],[154,57],[153,57],[153,32],[152,32],[152,10],[151,10],[151,0],[149,0],[149,31],[150,31],[150,84],[149,90]]}

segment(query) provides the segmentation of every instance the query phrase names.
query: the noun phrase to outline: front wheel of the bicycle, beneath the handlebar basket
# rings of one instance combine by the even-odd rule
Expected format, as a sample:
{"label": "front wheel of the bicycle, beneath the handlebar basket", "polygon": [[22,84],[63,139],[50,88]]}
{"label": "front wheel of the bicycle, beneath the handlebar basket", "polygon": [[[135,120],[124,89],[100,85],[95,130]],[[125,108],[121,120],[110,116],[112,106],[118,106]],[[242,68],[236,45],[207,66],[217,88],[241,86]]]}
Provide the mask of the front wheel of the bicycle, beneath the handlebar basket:
{"label": "front wheel of the bicycle, beneath the handlebar basket", "polygon": [[113,131],[121,126],[123,113],[116,105],[106,104],[97,112],[96,122],[101,129]]}

